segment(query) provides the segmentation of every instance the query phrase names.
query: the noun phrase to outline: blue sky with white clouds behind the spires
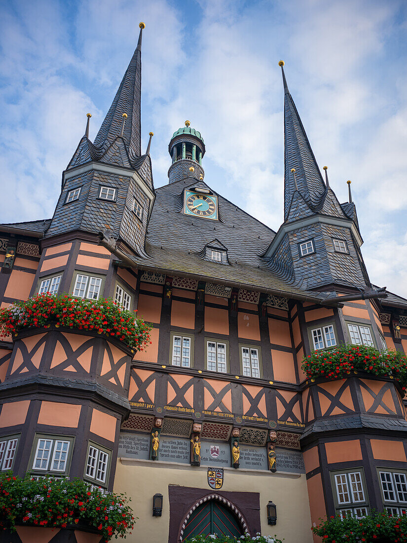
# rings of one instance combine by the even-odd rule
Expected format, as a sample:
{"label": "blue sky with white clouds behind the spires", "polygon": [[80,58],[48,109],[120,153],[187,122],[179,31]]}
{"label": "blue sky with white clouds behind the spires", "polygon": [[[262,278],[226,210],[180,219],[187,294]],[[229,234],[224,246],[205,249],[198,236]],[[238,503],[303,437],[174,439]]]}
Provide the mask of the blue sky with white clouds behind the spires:
{"label": "blue sky with white clouds behind the spires", "polygon": [[93,138],[144,21],[142,135],[155,186],[185,119],[205,181],[277,230],[283,220],[278,60],[330,185],[352,180],[372,282],[407,296],[404,0],[6,0],[0,4],[2,222],[52,216],[92,113]]}

